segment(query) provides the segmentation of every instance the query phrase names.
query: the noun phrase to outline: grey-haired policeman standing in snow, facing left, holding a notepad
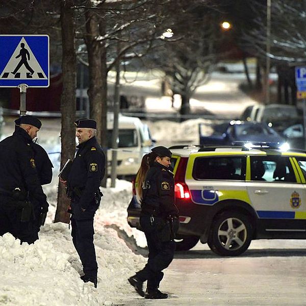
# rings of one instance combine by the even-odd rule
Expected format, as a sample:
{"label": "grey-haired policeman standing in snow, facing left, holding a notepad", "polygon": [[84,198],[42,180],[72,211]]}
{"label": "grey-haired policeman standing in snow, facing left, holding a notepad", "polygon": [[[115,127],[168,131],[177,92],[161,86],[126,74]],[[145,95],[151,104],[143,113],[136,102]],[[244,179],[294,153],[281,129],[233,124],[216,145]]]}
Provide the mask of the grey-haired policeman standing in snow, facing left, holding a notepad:
{"label": "grey-haired policeman standing in snow, facing left, holding a notepad", "polygon": [[75,121],[75,126],[78,151],[67,182],[62,183],[66,184],[71,199],[71,236],[83,265],[81,279],[85,283],[92,282],[97,288],[93,218],[102,196],[99,186],[105,173],[105,155],[95,138],[95,120],[80,119]]}

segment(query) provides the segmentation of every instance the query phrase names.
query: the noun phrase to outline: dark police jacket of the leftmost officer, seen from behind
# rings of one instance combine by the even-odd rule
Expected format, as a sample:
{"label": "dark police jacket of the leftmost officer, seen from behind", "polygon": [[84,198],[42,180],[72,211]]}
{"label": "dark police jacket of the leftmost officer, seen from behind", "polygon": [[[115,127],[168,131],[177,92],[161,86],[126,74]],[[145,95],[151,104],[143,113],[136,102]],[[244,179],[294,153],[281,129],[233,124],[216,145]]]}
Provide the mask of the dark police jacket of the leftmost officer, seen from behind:
{"label": "dark police jacket of the leftmost officer, seen from behind", "polygon": [[0,188],[7,191],[19,188],[30,192],[42,206],[48,205],[39,182],[32,143],[21,127],[0,142]]}

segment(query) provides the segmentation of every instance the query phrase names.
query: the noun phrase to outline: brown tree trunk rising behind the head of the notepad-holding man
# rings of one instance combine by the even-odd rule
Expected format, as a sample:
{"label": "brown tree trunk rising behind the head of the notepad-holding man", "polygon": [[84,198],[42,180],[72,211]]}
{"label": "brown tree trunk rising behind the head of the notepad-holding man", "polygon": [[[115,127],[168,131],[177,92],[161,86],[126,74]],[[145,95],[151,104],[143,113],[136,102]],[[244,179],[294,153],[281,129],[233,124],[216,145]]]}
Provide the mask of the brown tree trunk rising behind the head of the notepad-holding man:
{"label": "brown tree trunk rising behind the head of the notepad-holding man", "polygon": [[[91,1],[88,1],[88,6]],[[102,129],[101,113],[102,113],[102,75],[101,75],[101,47],[99,38],[99,23],[96,11],[88,9],[85,11],[86,18],[86,34],[85,42],[88,53],[89,63],[89,105],[90,118],[96,120],[97,131],[99,134],[104,132]],[[101,142],[100,137],[97,137],[98,142]]]}

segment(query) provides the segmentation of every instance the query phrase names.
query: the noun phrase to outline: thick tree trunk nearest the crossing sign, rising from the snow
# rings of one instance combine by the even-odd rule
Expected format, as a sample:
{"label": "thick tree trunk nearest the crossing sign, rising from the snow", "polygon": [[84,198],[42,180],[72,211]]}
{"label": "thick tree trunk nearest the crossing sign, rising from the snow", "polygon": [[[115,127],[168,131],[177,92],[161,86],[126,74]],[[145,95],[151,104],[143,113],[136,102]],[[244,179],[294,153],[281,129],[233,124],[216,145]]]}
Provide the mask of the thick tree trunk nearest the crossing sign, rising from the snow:
{"label": "thick tree trunk nearest the crossing sign, rising from the snow", "polygon": [[[63,91],[61,96],[61,168],[68,158],[72,159],[75,152],[75,89],[77,87],[77,60],[74,46],[74,20],[73,0],[61,2],[61,28],[62,28],[62,73]],[[67,208],[70,200],[66,196],[66,190],[62,184],[58,189],[58,205],[55,214],[55,222],[69,223]]]}

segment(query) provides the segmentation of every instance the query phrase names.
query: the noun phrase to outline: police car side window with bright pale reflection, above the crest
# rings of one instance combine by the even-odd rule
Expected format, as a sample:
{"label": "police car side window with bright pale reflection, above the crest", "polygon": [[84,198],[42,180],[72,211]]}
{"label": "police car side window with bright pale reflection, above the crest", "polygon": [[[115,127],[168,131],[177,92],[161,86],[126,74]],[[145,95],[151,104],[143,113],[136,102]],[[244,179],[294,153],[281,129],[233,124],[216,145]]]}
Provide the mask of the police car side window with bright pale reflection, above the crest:
{"label": "police car side window with bright pale reflection, above the crest", "polygon": [[257,156],[250,157],[251,181],[290,182],[295,183],[296,178],[288,157]]}

